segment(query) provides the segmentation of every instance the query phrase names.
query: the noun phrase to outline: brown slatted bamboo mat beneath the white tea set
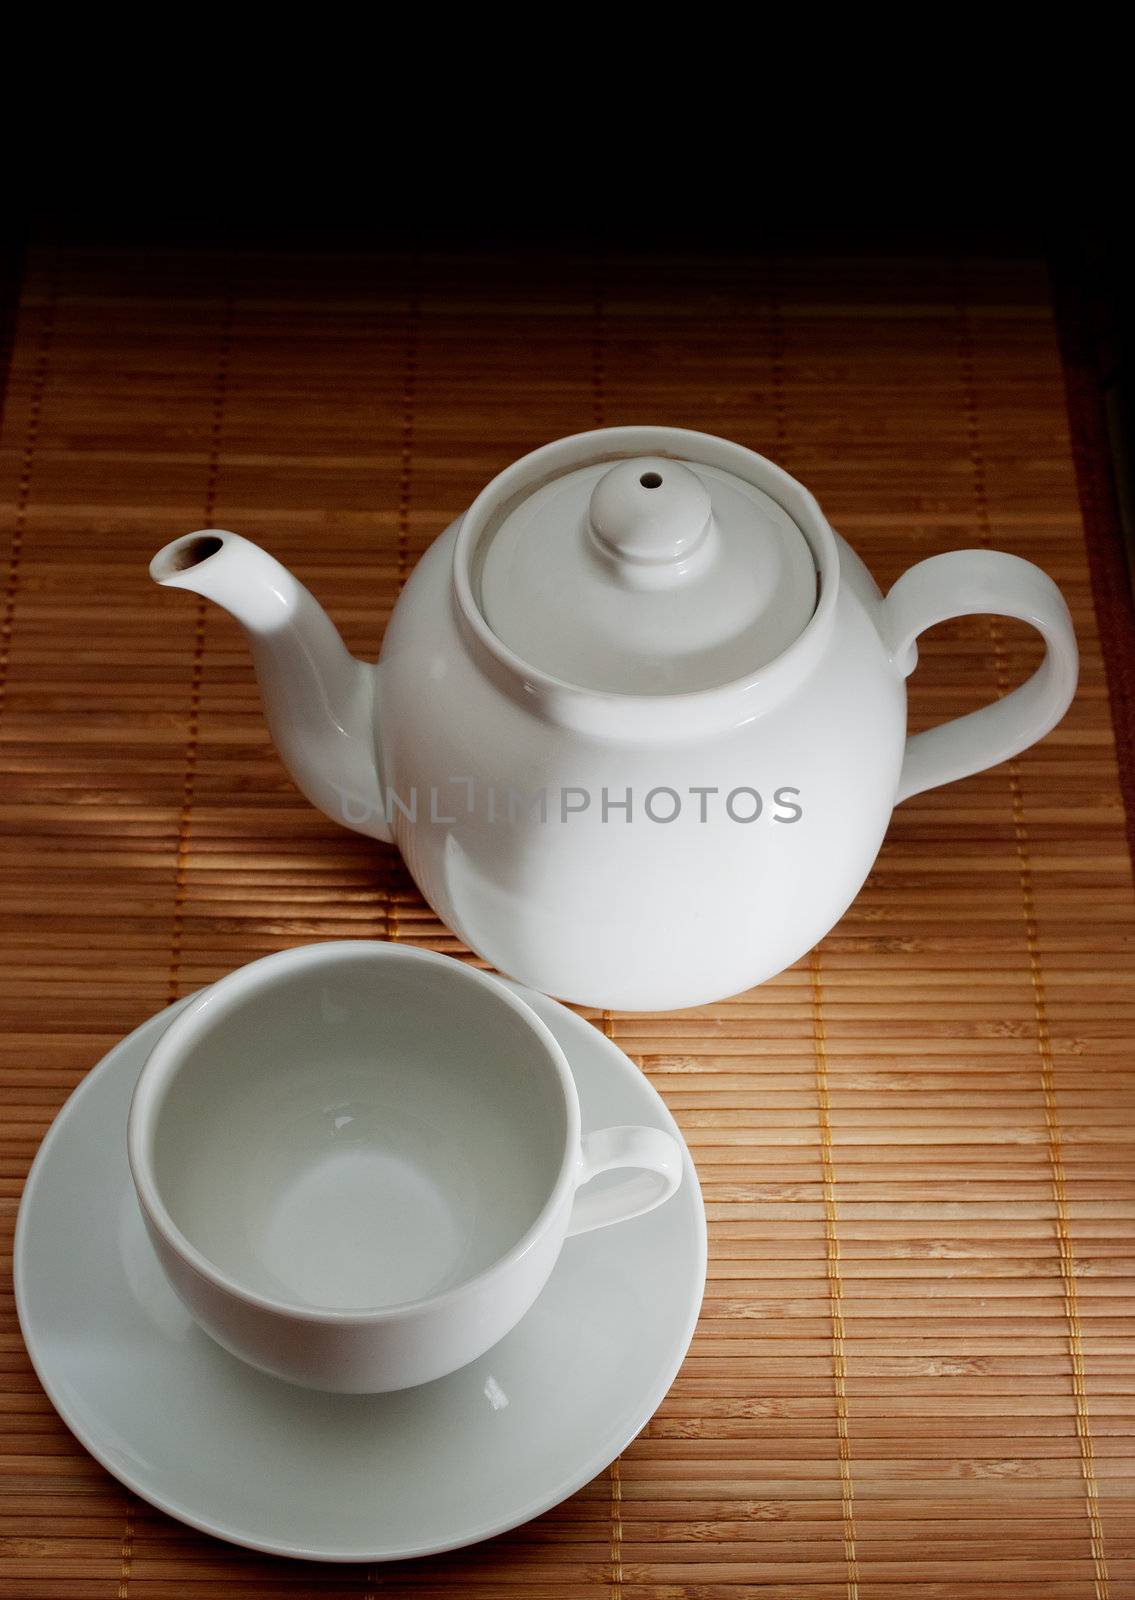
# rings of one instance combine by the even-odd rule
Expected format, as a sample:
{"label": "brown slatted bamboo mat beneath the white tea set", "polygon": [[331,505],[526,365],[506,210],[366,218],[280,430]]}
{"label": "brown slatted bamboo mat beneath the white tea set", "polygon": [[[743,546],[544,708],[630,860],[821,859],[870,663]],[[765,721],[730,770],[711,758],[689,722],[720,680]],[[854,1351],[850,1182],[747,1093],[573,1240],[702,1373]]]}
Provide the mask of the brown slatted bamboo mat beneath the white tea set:
{"label": "brown slatted bamboo mat beneath the white tea set", "polygon": [[[459,949],[291,789],[235,627],[154,589],[154,549],[263,539],[373,656],[491,474],[631,421],[770,454],[884,586],[956,546],[1037,560],[1073,712],[904,805],[794,970],[594,1016],[679,1118],[711,1227],[690,1357],[608,1474],[437,1560],[232,1549],[74,1443],[5,1269],[0,1600],[1135,1594],[1135,917],[1039,266],[34,250],[0,458],[6,1261],[51,1117],[171,997],[311,939]],[[936,630],[914,723],[1034,659],[1013,624]]]}

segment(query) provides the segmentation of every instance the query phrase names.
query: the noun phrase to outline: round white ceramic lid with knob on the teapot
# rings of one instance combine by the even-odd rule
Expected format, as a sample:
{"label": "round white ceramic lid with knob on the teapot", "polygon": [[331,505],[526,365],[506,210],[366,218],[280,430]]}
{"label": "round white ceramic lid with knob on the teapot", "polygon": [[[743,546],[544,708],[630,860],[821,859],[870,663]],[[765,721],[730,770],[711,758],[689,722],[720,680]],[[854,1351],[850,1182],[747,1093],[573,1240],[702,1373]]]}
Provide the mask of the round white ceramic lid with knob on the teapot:
{"label": "round white ceramic lid with knob on the teapot", "polygon": [[[687,448],[703,437],[658,434]],[[788,510],[720,464],[612,459],[602,430],[588,437],[594,459],[485,522],[472,590],[491,632],[539,672],[615,694],[716,688],[788,650],[818,598],[816,562]]]}

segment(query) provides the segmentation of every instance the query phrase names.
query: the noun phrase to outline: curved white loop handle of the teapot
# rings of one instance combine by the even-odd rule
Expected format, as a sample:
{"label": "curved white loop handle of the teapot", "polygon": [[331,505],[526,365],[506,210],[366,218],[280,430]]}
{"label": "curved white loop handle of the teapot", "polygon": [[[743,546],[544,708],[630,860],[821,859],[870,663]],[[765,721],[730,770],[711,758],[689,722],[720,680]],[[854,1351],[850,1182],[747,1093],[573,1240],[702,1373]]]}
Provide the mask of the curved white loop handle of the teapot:
{"label": "curved white loop handle of the teapot", "polygon": [[884,602],[892,659],[909,677],[917,662],[914,640],[924,629],[977,613],[1031,622],[1044,634],[1044,661],[993,706],[911,734],[896,802],[985,771],[1036,744],[1076,693],[1079,654],[1065,597],[1039,566],[1001,550],[948,550],[904,573]]}

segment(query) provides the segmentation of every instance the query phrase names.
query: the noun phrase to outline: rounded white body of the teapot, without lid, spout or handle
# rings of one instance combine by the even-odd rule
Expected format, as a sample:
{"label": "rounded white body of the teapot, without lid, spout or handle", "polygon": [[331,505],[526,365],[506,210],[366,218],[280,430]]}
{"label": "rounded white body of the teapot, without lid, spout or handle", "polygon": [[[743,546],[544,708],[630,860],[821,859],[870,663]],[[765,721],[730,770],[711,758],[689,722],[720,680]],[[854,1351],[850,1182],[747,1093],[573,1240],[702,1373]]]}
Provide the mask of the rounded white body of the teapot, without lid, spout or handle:
{"label": "rounded white body of the teapot, without lid, spout or handle", "polygon": [[826,648],[775,706],[636,741],[557,725],[482,670],[451,597],[458,530],[407,582],[376,694],[386,816],[439,917],[597,1008],[708,1003],[797,960],[863,885],[903,762],[904,674],[855,552],[837,541]]}

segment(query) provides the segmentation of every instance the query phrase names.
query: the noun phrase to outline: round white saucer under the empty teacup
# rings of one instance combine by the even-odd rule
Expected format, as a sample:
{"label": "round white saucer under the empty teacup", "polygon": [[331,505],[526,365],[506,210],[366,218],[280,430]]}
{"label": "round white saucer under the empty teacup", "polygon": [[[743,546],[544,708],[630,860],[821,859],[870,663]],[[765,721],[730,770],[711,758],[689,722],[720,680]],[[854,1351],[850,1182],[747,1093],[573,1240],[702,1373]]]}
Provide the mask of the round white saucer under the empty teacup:
{"label": "round white saucer under the empty teacup", "polygon": [[[680,1138],[621,1050],[554,1000],[512,987],[563,1046],[584,1130],[640,1122]],[[191,1322],[142,1230],[126,1107],[179,1008],[142,1024],[80,1083],[19,1208],[19,1323],[40,1382],[86,1450],[194,1528],[325,1562],[474,1544],[602,1472],[661,1403],[693,1336],[706,1218],[688,1152],[677,1195],[568,1240],[535,1307],[479,1362],[392,1395],[295,1389]]]}

